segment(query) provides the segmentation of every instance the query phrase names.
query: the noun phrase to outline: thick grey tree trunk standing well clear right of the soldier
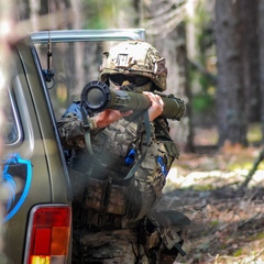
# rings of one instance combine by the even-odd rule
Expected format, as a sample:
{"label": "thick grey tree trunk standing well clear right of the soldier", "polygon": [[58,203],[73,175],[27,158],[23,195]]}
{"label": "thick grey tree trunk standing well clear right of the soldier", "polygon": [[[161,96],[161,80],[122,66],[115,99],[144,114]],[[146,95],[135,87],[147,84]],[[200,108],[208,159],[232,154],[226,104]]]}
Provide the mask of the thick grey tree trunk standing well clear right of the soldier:
{"label": "thick grey tree trunk standing well clear right of the soldier", "polygon": [[218,57],[217,111],[219,145],[224,141],[246,145],[246,111],[239,1],[216,1],[216,42]]}

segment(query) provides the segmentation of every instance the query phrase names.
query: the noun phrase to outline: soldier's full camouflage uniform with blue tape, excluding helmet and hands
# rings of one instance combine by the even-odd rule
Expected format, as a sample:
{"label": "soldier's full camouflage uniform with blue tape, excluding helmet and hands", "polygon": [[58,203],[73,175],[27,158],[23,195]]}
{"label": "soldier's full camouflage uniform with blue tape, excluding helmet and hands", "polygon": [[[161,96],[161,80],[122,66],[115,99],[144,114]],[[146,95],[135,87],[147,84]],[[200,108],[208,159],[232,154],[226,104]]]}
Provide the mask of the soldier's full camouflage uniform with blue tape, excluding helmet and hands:
{"label": "soldier's full camouflage uniform with blue tape, excluding helmet and hands", "polygon": [[[147,264],[166,263],[166,257],[173,263],[178,252],[173,246],[183,243],[185,228],[179,226],[186,226],[186,217],[153,210],[179,155],[167,121],[157,118],[145,124],[142,116],[130,116],[101,130],[91,128],[94,155],[86,148],[82,124],[78,101],[58,122],[74,197],[73,263]],[[143,153],[134,175],[125,178]],[[170,253],[162,254],[166,246]]]}

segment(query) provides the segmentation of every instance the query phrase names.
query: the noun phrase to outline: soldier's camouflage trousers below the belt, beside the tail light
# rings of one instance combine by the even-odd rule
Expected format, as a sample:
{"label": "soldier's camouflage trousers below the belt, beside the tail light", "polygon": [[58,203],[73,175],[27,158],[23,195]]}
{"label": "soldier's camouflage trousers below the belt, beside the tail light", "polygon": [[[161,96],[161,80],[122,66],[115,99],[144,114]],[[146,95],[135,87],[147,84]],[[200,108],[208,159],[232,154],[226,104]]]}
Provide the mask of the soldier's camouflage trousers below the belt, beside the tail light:
{"label": "soldier's camouflage trousers below the belt, beside the tail light", "polygon": [[150,264],[135,230],[75,231],[73,264]]}

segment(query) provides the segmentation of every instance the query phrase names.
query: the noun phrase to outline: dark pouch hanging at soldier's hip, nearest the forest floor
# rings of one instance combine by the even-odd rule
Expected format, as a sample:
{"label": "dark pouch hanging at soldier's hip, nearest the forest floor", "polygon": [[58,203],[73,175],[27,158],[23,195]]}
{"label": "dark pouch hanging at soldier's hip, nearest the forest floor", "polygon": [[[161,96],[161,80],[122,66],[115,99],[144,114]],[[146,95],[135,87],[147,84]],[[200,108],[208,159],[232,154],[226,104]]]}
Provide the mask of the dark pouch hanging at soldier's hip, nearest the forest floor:
{"label": "dark pouch hanging at soldier's hip, nearest the forest floor", "polygon": [[[183,244],[190,220],[182,212],[151,210],[144,223],[145,249],[155,254],[158,263],[174,263],[178,253],[185,255]],[[152,256],[153,257],[153,256]]]}

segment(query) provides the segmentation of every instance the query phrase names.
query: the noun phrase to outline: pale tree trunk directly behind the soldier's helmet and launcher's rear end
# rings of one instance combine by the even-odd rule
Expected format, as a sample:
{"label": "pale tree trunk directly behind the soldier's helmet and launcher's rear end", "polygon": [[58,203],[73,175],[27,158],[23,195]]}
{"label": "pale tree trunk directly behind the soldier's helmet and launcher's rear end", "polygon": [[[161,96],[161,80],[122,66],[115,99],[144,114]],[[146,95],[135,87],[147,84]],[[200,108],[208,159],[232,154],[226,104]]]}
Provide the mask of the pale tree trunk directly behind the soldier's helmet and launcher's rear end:
{"label": "pale tree trunk directly behind the soldier's helmet and launcher's rear end", "polygon": [[190,88],[188,82],[188,59],[186,46],[186,26],[180,23],[165,37],[156,37],[156,47],[166,58],[168,68],[167,91],[185,100],[186,113],[177,121],[170,121],[170,135],[183,151],[194,151],[190,111]]}

